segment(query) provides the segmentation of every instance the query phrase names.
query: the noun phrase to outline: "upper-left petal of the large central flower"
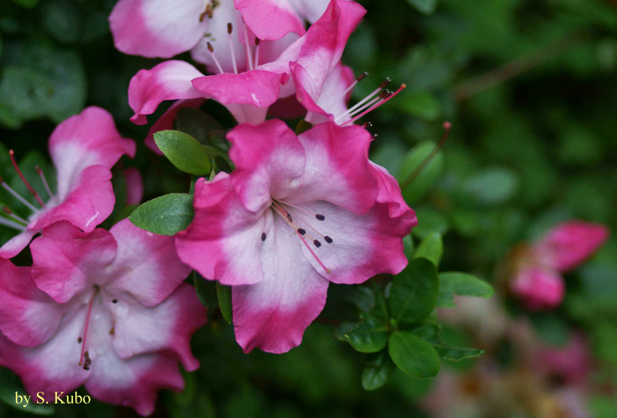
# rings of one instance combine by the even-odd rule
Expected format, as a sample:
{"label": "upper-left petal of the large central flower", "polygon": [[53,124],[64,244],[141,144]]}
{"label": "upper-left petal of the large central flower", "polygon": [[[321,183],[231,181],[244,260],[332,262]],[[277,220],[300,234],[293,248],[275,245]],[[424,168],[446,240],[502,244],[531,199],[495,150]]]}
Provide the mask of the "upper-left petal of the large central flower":
{"label": "upper-left petal of the large central flower", "polygon": [[239,125],[227,134],[229,156],[235,163],[232,183],[247,209],[270,206],[270,196],[281,196],[302,176],[304,148],[282,121]]}

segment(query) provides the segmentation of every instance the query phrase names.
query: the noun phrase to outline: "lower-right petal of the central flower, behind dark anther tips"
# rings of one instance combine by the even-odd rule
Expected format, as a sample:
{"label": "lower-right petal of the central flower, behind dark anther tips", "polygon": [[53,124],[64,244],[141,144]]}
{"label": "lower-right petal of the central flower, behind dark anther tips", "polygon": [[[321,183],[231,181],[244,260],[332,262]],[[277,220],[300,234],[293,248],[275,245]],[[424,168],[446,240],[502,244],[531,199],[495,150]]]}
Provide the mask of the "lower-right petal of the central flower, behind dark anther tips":
{"label": "lower-right petal of the central flower, behind dark anther tips", "polygon": [[325,279],[358,284],[375,274],[398,274],[407,265],[403,237],[417,224],[412,210],[391,217],[388,204],[376,203],[363,215],[355,215],[324,201],[304,204],[302,209],[324,217],[318,221],[290,209],[295,225],[306,231],[304,256]]}

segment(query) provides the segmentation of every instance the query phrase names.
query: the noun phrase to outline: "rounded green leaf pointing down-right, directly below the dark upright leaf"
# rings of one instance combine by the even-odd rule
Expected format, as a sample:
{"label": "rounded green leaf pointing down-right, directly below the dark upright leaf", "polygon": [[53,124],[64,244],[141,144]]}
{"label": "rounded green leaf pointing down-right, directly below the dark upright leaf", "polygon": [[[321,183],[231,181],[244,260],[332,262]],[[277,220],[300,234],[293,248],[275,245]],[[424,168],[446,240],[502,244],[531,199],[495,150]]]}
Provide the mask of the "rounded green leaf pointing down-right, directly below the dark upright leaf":
{"label": "rounded green leaf pointing down-right, directly below the dark upright leaf", "polygon": [[414,378],[433,378],[439,373],[437,351],[412,332],[393,332],[388,341],[388,353],[400,370]]}

